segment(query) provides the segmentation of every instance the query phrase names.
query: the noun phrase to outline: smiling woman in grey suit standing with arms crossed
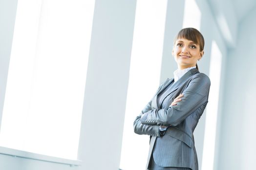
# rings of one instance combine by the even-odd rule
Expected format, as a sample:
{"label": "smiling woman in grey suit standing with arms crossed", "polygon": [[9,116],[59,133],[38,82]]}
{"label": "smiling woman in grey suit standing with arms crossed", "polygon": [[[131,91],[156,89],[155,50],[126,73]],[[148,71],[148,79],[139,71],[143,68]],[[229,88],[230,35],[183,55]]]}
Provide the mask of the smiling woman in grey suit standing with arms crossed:
{"label": "smiling woman in grey suit standing with arms crossed", "polygon": [[208,103],[210,79],[197,67],[204,38],[182,29],[172,55],[178,69],[163,82],[133,123],[136,134],[150,135],[147,170],[198,170],[193,131]]}

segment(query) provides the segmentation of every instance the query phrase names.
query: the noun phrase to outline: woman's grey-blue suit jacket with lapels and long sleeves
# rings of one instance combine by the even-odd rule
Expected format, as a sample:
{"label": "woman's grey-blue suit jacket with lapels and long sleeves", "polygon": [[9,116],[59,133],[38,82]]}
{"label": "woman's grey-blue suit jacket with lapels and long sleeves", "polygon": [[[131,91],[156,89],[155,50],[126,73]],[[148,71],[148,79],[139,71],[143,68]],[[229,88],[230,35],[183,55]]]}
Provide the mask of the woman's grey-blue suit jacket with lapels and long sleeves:
{"label": "woman's grey-blue suit jacket with lapels and long sleeves", "polygon": [[[157,95],[172,81],[167,79],[159,86],[152,100],[136,117],[134,132],[150,135],[146,169],[153,155],[158,166],[198,170],[193,131],[208,103],[211,82],[207,75],[193,68],[171,85],[171,102],[181,93],[184,94],[182,101],[168,108],[159,108]],[[160,135],[160,125],[169,126],[165,135]]]}

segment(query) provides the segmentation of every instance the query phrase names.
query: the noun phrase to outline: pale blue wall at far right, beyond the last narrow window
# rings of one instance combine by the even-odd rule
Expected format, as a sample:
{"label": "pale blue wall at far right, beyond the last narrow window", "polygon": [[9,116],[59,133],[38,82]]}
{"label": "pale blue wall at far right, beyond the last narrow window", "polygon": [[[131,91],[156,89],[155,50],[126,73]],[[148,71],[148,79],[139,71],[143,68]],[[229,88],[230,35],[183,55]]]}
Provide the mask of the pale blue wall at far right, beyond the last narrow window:
{"label": "pale blue wall at far right, beyond the last narrow window", "polygon": [[216,170],[250,170],[256,162],[256,9],[239,23],[230,49]]}

